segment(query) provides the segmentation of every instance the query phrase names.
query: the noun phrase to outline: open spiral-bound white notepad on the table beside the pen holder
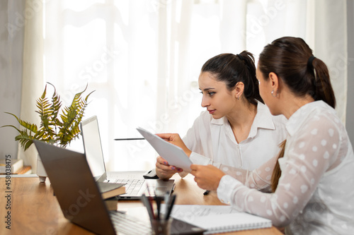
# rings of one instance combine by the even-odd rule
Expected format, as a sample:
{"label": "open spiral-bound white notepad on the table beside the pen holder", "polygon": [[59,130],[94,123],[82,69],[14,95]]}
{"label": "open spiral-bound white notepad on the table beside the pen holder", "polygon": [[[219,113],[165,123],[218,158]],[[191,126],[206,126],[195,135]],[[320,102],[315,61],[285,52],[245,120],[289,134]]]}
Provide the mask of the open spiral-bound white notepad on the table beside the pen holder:
{"label": "open spiral-bound white notepad on the table beside the pen holder", "polygon": [[272,227],[270,219],[238,212],[229,205],[175,205],[171,217],[206,229],[204,234]]}

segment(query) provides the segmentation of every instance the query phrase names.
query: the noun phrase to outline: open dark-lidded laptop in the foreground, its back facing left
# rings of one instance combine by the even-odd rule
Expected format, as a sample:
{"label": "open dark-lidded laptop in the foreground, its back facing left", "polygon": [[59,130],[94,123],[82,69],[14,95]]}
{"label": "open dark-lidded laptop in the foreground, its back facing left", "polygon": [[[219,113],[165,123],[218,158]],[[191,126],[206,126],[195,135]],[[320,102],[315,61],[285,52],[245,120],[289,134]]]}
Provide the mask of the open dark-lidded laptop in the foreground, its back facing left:
{"label": "open dark-lidded laptop in the foreground, its back facing left", "polygon": [[[42,164],[64,217],[95,234],[152,234],[144,222],[112,210],[108,212],[84,154],[34,140]],[[205,231],[173,219],[171,234],[202,234]]]}

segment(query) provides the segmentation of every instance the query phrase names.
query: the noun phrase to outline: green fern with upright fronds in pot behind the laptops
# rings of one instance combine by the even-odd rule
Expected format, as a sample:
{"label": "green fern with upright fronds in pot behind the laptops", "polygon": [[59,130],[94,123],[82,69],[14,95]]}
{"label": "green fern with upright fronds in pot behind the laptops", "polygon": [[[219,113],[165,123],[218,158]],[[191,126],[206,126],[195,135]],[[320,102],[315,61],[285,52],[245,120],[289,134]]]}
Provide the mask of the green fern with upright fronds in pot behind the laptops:
{"label": "green fern with upright fronds in pot behind the laptops", "polygon": [[[48,83],[52,85],[51,83]],[[36,101],[38,108],[37,112],[40,115],[40,127],[36,124],[29,123],[19,119],[15,114],[6,112],[14,116],[18,123],[23,127],[22,130],[13,125],[6,125],[15,128],[19,135],[15,137],[19,141],[23,150],[28,150],[28,147],[33,144],[33,140],[42,140],[50,144],[55,144],[60,147],[67,147],[72,140],[79,138],[80,122],[84,116],[84,111],[88,104],[87,100],[92,92],[85,98],[81,95],[86,91],[86,88],[77,93],[69,107],[62,108],[62,102],[57,94],[55,86],[51,99],[47,97],[47,85],[42,96]],[[60,113],[60,114],[59,114]],[[5,127],[5,126],[1,126]]]}

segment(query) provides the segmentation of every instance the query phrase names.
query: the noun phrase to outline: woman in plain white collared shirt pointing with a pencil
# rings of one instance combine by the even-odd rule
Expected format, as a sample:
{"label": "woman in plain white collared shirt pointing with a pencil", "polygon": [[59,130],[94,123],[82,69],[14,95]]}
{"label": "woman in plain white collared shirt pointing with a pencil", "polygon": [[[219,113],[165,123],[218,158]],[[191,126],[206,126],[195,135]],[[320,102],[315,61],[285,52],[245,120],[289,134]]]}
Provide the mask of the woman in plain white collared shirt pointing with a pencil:
{"label": "woman in plain white collared shirt pointing with a pencil", "polygon": [[[247,177],[247,170],[278,155],[286,119],[272,116],[263,104],[251,53],[212,57],[202,66],[198,83],[207,111],[195,120],[183,141],[178,134],[158,134],[161,138],[182,147],[193,163],[213,164],[232,176]],[[162,157],[156,159],[160,179],[176,172],[185,175]],[[251,184],[270,182],[256,174],[249,179],[257,179]]]}

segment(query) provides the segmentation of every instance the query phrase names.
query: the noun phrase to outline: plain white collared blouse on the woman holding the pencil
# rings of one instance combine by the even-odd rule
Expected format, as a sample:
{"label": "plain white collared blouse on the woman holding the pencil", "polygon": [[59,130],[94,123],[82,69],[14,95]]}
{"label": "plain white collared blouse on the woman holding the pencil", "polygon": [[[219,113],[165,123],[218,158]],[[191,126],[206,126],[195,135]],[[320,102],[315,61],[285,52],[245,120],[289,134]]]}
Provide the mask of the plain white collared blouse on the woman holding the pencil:
{"label": "plain white collared blouse on the woman holding the pencil", "polygon": [[272,116],[268,107],[258,102],[248,138],[237,143],[226,117],[213,119],[202,112],[183,142],[192,151],[194,164],[213,164],[227,174],[234,169],[253,170],[278,155],[278,145],[286,137],[286,121],[285,116]]}

